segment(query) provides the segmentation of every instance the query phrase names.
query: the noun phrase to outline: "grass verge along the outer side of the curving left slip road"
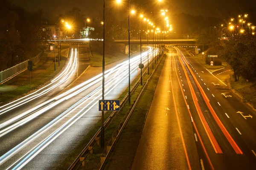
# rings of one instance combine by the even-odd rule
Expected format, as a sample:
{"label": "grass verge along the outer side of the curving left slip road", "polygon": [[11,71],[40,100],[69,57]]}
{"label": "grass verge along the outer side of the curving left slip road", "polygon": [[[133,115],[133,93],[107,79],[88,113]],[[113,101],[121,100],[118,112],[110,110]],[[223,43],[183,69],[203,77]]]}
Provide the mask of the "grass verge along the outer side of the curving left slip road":
{"label": "grass verge along the outer side of the curving left slip road", "polygon": [[[39,61],[37,64],[35,64],[34,68],[37,68],[38,66],[42,65],[47,59],[47,54],[43,54],[42,60]],[[10,102],[12,99],[15,99],[19,96],[22,96],[23,94],[28,93],[31,90],[34,90],[38,88],[38,86],[43,85],[45,82],[48,82],[50,79],[54,78],[65,66],[67,61],[66,57],[63,57],[62,62],[60,63],[60,66],[56,66],[56,71],[54,71],[54,62],[47,68],[45,71],[39,73],[35,77],[31,79],[31,86],[30,86],[30,79],[17,81],[18,77],[20,75],[27,75],[29,76],[29,71],[23,71],[20,73],[19,76],[14,77],[13,79],[9,80],[8,82],[4,83],[0,87],[4,85],[17,85],[18,87],[11,91],[5,91],[1,92],[0,94],[0,102],[7,103]]]}

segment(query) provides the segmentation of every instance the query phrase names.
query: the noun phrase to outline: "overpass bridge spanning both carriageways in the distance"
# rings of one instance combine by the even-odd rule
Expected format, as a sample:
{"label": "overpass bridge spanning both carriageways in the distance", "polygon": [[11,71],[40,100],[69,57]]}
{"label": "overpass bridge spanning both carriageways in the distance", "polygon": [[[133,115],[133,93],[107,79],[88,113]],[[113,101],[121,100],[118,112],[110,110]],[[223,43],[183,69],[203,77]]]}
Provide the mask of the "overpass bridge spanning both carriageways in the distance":
{"label": "overpass bridge spanning both carriageways in the distance", "polygon": [[[128,54],[128,40],[114,40],[117,46],[119,46],[119,50]],[[141,40],[142,45],[152,45],[153,40]],[[155,43],[155,40],[154,40]],[[193,39],[168,39],[168,40],[161,40],[160,44],[168,44],[168,46],[176,46],[176,47],[192,47],[195,48],[197,46],[196,40]],[[140,40],[130,40],[131,48],[136,48],[136,46],[140,45]]]}

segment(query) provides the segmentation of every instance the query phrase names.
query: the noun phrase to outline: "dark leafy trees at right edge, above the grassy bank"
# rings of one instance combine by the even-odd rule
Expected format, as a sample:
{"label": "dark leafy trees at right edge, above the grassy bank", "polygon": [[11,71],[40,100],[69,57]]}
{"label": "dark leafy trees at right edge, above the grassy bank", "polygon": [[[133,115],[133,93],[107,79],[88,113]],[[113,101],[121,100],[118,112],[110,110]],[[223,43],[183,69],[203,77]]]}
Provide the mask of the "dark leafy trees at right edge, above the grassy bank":
{"label": "dark leafy trees at right edge, above the grassy bank", "polygon": [[249,81],[256,80],[256,36],[234,35],[221,42],[218,54],[233,69],[235,81],[239,81],[240,76]]}

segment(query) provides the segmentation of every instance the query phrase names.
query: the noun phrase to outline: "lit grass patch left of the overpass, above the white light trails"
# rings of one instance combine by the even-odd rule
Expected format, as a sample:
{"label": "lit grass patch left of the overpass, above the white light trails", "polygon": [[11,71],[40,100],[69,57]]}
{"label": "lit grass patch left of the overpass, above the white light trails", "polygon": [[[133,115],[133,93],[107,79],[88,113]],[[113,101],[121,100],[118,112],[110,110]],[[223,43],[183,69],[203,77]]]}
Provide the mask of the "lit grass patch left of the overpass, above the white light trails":
{"label": "lit grass patch left of the overpass, above the white light trails", "polygon": [[[105,54],[105,65],[109,65],[113,62],[119,61],[128,57],[126,54],[116,53],[115,56]],[[92,67],[102,67],[102,55],[93,52],[93,57],[90,57],[90,64]]]}

